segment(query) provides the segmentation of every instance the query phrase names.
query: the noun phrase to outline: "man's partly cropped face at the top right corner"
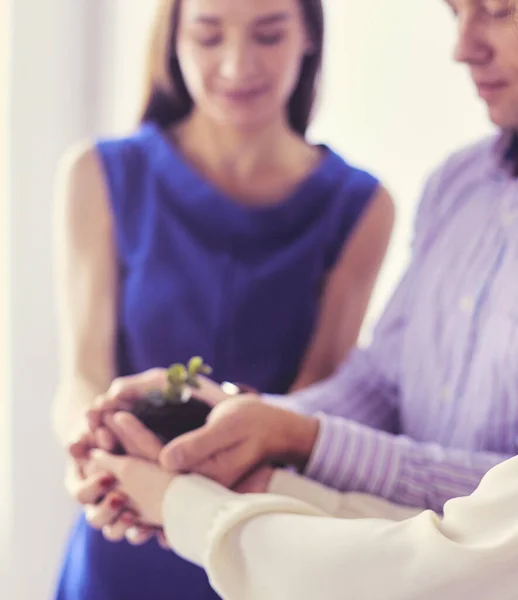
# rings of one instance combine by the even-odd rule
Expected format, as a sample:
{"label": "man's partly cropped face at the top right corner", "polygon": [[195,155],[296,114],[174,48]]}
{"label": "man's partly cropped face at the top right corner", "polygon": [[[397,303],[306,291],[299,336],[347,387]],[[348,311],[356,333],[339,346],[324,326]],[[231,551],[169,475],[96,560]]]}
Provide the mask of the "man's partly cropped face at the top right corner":
{"label": "man's partly cropped face at the top right corner", "polygon": [[458,21],[455,59],[469,67],[491,120],[518,130],[518,0],[447,0]]}

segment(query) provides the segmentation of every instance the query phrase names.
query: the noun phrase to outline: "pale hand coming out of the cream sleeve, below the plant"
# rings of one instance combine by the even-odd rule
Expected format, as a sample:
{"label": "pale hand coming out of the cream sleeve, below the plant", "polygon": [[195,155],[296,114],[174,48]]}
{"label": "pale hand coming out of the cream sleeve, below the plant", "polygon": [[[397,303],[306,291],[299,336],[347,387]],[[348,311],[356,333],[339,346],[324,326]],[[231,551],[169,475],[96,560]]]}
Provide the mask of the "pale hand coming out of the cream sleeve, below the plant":
{"label": "pale hand coming out of the cream sleeve, below the plant", "polygon": [[141,523],[162,526],[162,502],[173,475],[156,463],[130,456],[114,456],[104,450],[91,453],[94,465],[112,473],[131,500]]}

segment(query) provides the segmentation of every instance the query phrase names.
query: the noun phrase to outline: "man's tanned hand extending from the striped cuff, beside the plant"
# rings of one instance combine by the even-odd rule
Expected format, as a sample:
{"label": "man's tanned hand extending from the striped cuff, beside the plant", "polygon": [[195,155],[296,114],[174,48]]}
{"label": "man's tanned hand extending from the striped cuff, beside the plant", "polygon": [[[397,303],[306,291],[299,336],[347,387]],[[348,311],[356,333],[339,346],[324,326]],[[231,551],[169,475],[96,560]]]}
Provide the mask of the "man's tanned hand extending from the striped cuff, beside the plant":
{"label": "man's tanned hand extending from the striped cuff, beside the plant", "polygon": [[207,423],[167,444],[160,463],[205,475],[232,488],[254,467],[281,460],[303,467],[318,434],[316,418],[243,395],[218,404]]}

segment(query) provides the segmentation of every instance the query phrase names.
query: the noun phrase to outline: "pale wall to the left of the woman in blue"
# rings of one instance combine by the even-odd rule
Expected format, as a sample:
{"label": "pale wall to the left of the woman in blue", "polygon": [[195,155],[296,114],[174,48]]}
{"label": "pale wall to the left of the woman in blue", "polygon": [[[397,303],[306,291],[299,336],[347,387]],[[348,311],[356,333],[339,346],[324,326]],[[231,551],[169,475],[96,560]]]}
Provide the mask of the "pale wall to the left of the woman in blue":
{"label": "pale wall to the left of the woman in blue", "polygon": [[9,356],[0,402],[0,597],[9,600],[50,598],[76,512],[50,430],[55,166],[74,141],[119,131],[134,118],[127,82],[143,69],[139,36],[147,35],[152,7],[141,0],[10,0],[2,21],[11,60],[9,125],[0,130],[10,159],[0,255],[8,269]]}

